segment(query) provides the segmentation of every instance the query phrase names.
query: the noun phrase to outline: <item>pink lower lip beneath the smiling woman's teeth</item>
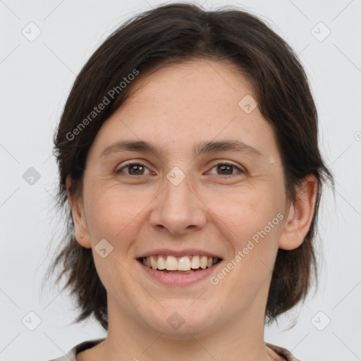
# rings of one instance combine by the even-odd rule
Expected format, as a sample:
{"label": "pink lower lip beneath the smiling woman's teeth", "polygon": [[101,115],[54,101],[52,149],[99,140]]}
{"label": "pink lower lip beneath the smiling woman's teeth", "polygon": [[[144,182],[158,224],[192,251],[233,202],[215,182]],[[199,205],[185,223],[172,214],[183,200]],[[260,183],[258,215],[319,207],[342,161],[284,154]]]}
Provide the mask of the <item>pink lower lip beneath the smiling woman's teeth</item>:
{"label": "pink lower lip beneath the smiling woman's teeth", "polygon": [[188,286],[207,279],[216,270],[216,268],[218,268],[219,264],[221,264],[221,262],[218,262],[210,268],[199,269],[191,274],[167,274],[166,272],[149,268],[142,264],[142,262],[137,261],[137,263],[140,264],[140,267],[142,267],[149,276],[167,286]]}

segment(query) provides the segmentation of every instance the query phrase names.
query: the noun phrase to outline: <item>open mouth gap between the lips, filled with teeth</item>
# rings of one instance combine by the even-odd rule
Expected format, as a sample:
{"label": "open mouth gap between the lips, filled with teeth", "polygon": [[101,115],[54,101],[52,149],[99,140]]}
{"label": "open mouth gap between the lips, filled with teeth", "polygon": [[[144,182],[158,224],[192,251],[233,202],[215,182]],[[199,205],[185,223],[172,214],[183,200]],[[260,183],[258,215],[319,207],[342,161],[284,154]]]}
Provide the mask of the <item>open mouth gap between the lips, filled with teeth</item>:
{"label": "open mouth gap between the lips, filled with teeth", "polygon": [[137,261],[149,269],[164,274],[192,274],[214,267],[221,262],[220,257],[207,255],[189,255],[176,257],[173,255],[151,255],[139,257]]}

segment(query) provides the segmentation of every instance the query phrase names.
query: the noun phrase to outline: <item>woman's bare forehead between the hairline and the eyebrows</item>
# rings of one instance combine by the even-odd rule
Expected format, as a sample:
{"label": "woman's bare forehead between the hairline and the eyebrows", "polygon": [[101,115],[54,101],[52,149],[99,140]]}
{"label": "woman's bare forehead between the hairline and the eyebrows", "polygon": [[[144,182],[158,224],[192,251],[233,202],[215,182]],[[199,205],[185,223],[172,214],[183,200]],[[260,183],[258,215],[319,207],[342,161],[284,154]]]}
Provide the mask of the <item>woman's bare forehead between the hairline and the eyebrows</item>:
{"label": "woman's bare forehead between the hairline and the eyebrows", "polygon": [[265,154],[274,153],[273,131],[258,106],[250,113],[240,106],[255,94],[231,64],[187,61],[140,75],[130,84],[126,102],[99,130],[99,151],[131,137],[178,149],[190,144],[193,149],[200,141],[238,140]]}

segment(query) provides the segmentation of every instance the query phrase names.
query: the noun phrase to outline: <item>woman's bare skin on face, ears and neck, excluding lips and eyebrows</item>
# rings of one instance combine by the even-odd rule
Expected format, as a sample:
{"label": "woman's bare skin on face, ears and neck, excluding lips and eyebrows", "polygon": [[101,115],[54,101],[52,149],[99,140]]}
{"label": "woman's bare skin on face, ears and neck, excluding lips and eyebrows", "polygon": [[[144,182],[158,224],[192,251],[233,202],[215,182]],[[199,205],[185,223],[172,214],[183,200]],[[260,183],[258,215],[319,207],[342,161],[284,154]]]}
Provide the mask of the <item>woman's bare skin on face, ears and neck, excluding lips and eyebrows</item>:
{"label": "woman's bare skin on face, ears and neck, excluding lips and eyebrows", "polygon": [[[81,197],[68,192],[75,237],[92,247],[108,295],[106,341],[77,360],[283,360],[264,343],[271,269],[279,248],[293,250],[305,238],[317,179],[307,176],[298,200],[288,202],[273,130],[258,106],[247,114],[238,105],[254,92],[230,64],[171,64],[132,86],[132,97],[106,120],[90,148]],[[101,160],[107,146],[125,139],[156,141],[165,152],[127,151]],[[208,140],[240,140],[263,155],[193,157],[193,145]],[[123,168],[126,161],[147,168],[135,179],[134,166]],[[216,166],[224,163],[235,168],[224,174]],[[166,178],[174,166],[185,175],[178,185]],[[159,247],[191,247],[221,255],[226,267],[279,213],[283,220],[217,285],[206,279],[164,286],[135,260]],[[113,251],[102,258],[94,247],[104,238]],[[185,320],[179,329],[167,322],[173,312]]]}

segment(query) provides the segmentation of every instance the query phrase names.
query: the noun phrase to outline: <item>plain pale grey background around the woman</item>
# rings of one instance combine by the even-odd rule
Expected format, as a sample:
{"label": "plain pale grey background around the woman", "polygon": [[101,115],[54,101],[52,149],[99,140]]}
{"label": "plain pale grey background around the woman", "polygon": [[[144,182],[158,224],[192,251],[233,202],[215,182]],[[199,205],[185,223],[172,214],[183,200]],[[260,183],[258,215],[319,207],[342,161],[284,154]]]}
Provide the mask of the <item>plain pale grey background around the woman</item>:
{"label": "plain pale grey background around the woman", "polygon": [[[320,209],[319,289],[267,327],[265,339],[302,361],[361,360],[361,1],[202,3],[255,13],[300,55],[319,111],[320,147],[336,176],[336,197],[326,188]],[[94,322],[71,325],[76,312],[66,293],[40,293],[63,227],[54,211],[52,137],[75,75],[92,52],[124,20],[157,4],[0,0],[0,360],[47,361],[104,336]],[[30,167],[39,179],[29,178]]]}

